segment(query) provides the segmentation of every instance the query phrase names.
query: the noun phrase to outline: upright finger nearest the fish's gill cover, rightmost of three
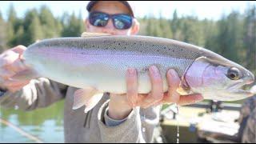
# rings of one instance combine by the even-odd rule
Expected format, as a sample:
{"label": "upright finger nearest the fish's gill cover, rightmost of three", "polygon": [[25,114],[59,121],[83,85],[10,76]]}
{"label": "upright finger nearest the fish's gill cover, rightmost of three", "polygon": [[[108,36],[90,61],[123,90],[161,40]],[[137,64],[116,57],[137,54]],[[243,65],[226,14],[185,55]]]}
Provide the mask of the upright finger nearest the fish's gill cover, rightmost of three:
{"label": "upright finger nearest the fish's gill cover, rightmost of three", "polygon": [[164,101],[167,103],[177,103],[180,98],[180,94],[176,91],[178,89],[179,83],[181,82],[178,74],[175,70],[168,70],[166,74],[168,82],[168,94],[164,97]]}

